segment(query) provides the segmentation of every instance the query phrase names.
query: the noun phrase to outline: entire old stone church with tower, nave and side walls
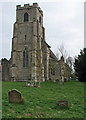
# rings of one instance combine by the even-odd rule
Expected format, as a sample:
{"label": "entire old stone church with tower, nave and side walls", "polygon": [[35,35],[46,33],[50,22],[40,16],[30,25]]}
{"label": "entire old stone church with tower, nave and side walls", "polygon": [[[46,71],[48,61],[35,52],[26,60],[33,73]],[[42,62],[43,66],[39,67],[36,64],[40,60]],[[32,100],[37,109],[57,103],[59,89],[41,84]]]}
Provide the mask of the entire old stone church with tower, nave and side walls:
{"label": "entire old stone church with tower, nave and side walls", "polygon": [[3,81],[70,80],[70,68],[58,61],[45,40],[43,11],[37,3],[16,6],[11,58],[2,59]]}

